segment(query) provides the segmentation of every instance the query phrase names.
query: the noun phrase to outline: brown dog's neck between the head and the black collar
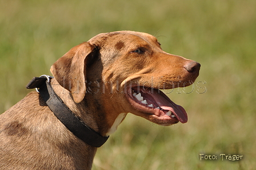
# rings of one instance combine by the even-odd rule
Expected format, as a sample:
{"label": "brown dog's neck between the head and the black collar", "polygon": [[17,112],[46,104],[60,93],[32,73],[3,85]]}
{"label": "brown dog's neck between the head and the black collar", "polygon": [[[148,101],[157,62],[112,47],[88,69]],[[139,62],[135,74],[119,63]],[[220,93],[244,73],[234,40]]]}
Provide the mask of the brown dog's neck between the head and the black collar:
{"label": "brown dog's neck between the head and the black collar", "polygon": [[101,99],[97,98],[95,94],[88,93],[81,103],[75,103],[70,92],[61,87],[54,78],[51,80],[51,86],[59,98],[63,100],[66,106],[69,107],[79,119],[102,136],[109,136],[111,133],[114,133],[127,115],[127,113],[121,113],[117,115],[117,118],[114,118],[115,116],[113,115],[113,120],[109,123],[107,122],[105,110],[102,108],[102,105],[97,104]]}

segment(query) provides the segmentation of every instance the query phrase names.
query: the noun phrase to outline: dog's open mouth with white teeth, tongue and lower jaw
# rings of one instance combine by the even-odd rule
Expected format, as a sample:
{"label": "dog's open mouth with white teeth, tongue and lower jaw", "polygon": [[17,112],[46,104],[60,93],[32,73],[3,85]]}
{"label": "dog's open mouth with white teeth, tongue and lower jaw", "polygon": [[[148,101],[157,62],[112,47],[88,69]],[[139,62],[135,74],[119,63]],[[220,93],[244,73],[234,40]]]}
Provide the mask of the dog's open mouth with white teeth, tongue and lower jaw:
{"label": "dog's open mouth with white teeth, tongue and lower jaw", "polygon": [[151,122],[168,126],[187,122],[187,113],[182,106],[175,104],[162,91],[155,88],[131,87],[126,97],[131,105],[142,112],[139,116]]}

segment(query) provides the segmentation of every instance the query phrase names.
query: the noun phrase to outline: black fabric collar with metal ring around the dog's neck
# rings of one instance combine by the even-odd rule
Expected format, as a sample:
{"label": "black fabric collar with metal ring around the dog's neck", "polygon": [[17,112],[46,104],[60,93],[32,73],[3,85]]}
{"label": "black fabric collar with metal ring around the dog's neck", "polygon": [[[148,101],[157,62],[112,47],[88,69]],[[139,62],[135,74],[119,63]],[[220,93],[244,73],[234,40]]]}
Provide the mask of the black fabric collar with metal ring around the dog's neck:
{"label": "black fabric collar with metal ring around the dog's neck", "polygon": [[50,76],[42,75],[34,77],[26,88],[39,88],[38,92],[45,100],[47,106],[54,115],[64,124],[75,136],[93,147],[101,147],[109,136],[103,137],[89,126],[82,122],[55,94],[50,84]]}

